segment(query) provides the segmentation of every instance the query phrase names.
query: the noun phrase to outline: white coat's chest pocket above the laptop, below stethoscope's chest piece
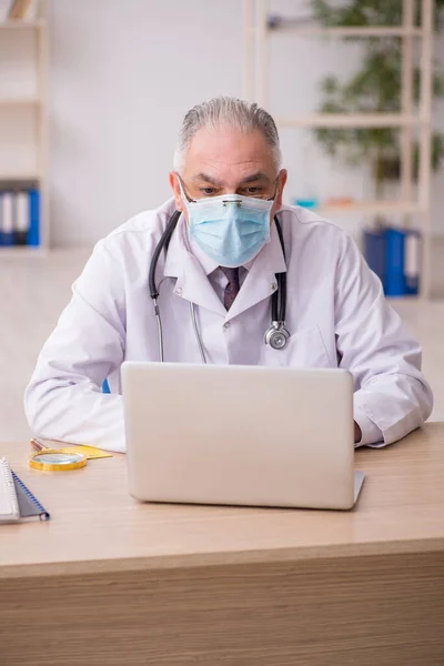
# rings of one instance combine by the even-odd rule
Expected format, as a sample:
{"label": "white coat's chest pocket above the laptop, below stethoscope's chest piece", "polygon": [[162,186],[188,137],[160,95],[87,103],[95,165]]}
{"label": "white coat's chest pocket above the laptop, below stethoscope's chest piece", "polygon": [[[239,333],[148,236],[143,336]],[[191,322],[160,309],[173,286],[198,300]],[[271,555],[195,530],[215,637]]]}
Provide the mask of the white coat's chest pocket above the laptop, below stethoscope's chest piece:
{"label": "white coat's chest pocket above the laptop, below stethoscope's chest piece", "polygon": [[321,331],[316,325],[296,331],[283,350],[264,345],[261,365],[286,367],[332,367]]}

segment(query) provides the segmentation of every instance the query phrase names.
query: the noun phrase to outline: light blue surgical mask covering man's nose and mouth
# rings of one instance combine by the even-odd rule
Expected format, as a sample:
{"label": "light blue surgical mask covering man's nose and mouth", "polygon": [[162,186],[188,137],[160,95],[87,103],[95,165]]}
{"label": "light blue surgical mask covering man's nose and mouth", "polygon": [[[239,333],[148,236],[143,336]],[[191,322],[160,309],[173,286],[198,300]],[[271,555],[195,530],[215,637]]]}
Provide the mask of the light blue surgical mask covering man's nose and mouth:
{"label": "light blue surgical mask covering man's nose and mouth", "polygon": [[242,266],[270,242],[270,213],[273,200],[240,194],[221,194],[189,201],[190,236],[220,266]]}

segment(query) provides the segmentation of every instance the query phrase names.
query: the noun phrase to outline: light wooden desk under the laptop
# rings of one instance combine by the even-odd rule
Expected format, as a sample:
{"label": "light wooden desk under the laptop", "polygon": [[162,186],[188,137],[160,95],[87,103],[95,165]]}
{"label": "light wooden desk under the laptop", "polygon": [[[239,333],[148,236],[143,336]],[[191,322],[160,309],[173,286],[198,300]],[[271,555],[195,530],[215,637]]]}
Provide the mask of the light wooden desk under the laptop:
{"label": "light wooden desk under the laptop", "polygon": [[443,666],[444,423],[356,454],[350,513],[142,505],[125,461],[27,467],[0,527],[0,664]]}

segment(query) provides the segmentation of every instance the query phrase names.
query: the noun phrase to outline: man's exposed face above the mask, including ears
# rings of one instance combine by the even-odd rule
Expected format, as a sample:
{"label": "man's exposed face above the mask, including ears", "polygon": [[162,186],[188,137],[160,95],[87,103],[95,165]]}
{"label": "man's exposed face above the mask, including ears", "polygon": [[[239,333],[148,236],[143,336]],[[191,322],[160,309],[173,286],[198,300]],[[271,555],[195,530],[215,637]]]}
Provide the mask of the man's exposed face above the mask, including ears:
{"label": "man's exposed face above the mask, including ears", "polygon": [[[209,132],[202,128],[194,135],[181,173],[190,199],[242,194],[258,199],[273,199],[270,219],[282,205],[286,171],[276,172],[272,150],[259,130],[250,133],[235,130]],[[175,208],[186,219],[179,176],[170,173]]]}

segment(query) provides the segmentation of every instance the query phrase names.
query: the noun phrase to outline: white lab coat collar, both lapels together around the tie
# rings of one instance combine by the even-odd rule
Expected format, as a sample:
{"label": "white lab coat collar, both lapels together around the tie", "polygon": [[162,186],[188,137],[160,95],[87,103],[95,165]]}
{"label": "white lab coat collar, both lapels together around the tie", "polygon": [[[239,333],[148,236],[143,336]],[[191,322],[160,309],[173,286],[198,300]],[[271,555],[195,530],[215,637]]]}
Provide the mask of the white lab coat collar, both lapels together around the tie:
{"label": "white lab coat collar, both lapels together around the tie", "polygon": [[208,275],[218,268],[218,264],[202,254],[199,253],[198,259],[192,252],[186,233],[186,221],[181,215],[171,238],[163,274],[165,278],[178,279],[176,295],[221,314],[225,321],[234,319],[260,301],[270,297],[278,287],[275,273],[286,272],[281,243],[273,223],[270,230],[270,242],[245,266],[249,273],[233,305],[226,312],[208,280]]}

